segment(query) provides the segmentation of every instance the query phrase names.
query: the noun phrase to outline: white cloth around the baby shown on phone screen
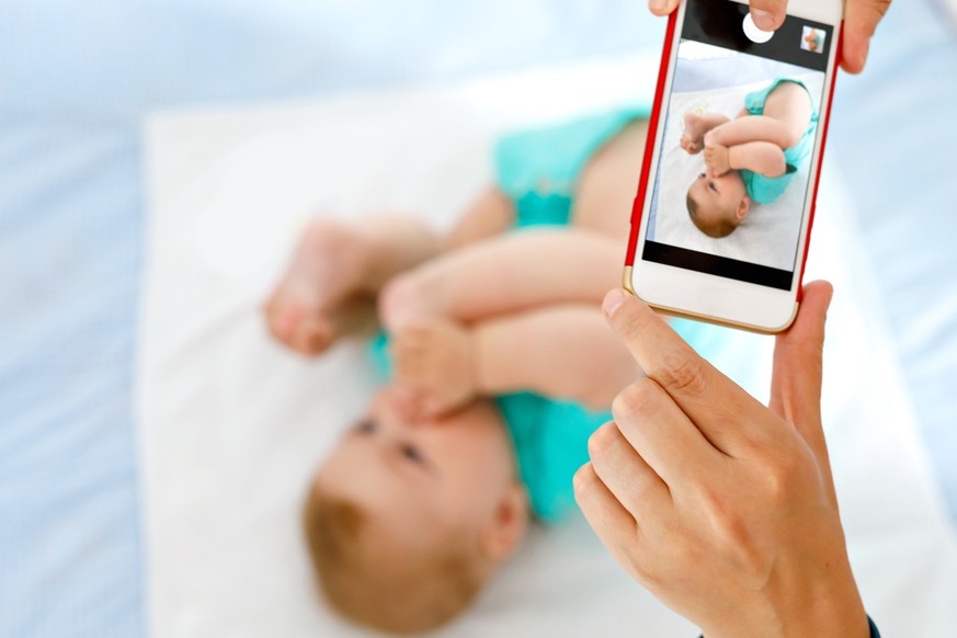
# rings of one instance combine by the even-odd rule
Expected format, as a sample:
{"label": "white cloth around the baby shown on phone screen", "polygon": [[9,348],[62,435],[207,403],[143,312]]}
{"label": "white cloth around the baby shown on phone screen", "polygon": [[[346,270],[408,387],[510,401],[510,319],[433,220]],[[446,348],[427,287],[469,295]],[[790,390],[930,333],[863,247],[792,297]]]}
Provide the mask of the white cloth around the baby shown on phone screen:
{"label": "white cloth around the baby shown on phone screen", "polygon": [[[797,79],[805,81],[816,103],[820,103],[820,75],[808,73]],[[690,111],[711,112],[733,118],[744,106],[744,95],[766,86],[767,82],[756,82],[672,94],[661,156],[661,194],[654,241],[788,272],[794,270],[800,212],[807,192],[807,164],[800,168],[781,197],[771,204],[753,204],[741,226],[720,239],[708,237],[695,227],[685,202],[688,186],[705,171],[705,160],[703,153],[691,156],[679,146],[684,133],[684,114]]]}

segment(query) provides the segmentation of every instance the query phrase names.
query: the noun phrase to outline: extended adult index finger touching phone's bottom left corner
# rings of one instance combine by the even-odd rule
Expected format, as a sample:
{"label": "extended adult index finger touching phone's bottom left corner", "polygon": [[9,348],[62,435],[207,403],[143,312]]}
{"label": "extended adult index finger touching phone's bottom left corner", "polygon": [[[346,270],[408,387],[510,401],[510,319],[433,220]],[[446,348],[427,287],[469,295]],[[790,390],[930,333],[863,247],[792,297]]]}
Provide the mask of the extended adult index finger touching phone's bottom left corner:
{"label": "extended adult index finger touching phone's bottom left corner", "polygon": [[761,420],[747,418],[764,406],[702,358],[647,304],[615,289],[605,296],[602,309],[645,374],[713,446],[739,456],[742,445],[772,436]]}

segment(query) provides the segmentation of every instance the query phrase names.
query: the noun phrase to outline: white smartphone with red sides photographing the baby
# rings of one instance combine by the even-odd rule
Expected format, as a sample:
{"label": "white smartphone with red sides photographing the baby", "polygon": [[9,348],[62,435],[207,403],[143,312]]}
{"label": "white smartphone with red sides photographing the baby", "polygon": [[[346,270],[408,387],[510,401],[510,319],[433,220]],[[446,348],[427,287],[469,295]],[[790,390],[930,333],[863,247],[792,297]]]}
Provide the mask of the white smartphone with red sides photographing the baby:
{"label": "white smartphone with red sides photographing the baby", "polygon": [[664,39],[624,285],[654,309],[774,333],[800,303],[842,0],[682,0]]}

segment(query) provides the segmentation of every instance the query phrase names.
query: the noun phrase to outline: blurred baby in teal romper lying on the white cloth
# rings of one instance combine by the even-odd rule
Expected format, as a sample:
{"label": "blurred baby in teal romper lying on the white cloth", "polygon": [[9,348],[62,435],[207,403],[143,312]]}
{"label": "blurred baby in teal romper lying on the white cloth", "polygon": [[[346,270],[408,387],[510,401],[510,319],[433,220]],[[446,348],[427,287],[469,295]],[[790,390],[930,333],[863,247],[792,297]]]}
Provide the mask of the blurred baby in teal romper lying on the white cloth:
{"label": "blurred baby in teal romper lying on the white cloth", "polygon": [[398,216],[306,231],[266,305],[270,330],[315,355],[377,314],[388,341],[373,354],[394,376],[304,509],[319,585],[352,620],[447,623],[531,516],[574,506],[589,436],[640,375],[600,304],[620,274],[641,114],[503,139],[497,186],[447,237]]}

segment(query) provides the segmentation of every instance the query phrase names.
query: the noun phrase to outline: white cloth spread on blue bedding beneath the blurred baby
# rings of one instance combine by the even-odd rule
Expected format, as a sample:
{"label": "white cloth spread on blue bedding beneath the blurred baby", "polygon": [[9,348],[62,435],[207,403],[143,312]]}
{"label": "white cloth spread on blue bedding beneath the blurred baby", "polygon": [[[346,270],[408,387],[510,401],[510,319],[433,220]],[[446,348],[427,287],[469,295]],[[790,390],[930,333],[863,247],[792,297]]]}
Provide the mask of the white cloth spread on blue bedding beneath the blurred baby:
{"label": "white cloth spread on blue bedding beneath the blurred baby", "polygon": [[[260,315],[303,220],[388,208],[447,226],[490,179],[497,132],[647,98],[656,70],[653,59],[599,61],[151,118],[137,409],[152,636],[361,635],[317,604],[298,511],[312,468],[372,392],[371,371],[357,344],[316,361],[290,355]],[[957,549],[867,303],[868,270],[846,240],[853,229],[835,224],[846,202],[836,187],[827,196],[809,269],[839,285],[824,410],[852,561],[885,635],[948,635]],[[768,339],[734,333],[731,344],[720,367],[750,361],[767,378]],[[696,635],[630,581],[581,519],[536,531],[446,630],[625,631]]]}

